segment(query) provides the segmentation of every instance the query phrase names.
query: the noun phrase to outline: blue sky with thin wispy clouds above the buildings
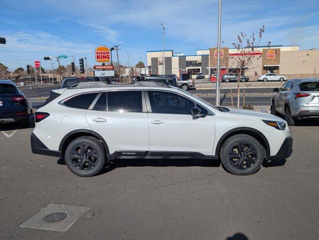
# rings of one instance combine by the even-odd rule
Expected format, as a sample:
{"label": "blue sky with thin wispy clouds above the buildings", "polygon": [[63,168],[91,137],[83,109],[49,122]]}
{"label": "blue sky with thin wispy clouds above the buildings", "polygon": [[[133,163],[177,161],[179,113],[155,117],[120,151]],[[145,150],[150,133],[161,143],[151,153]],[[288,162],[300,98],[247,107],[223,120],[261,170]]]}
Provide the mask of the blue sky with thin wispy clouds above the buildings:
{"label": "blue sky with thin wispy clouds above the buildings", "polygon": [[[41,60],[48,68],[44,56],[75,55],[76,65],[87,57],[93,66],[94,49],[101,44],[120,45],[122,64],[128,64],[128,55],[132,65],[146,63],[146,51],[162,47],[160,22],[166,49],[195,54],[216,46],[217,14],[217,0],[0,0],[0,36],[7,40],[0,45],[0,62],[14,70]],[[258,32],[262,25],[262,45],[319,48],[318,0],[223,0],[225,46],[237,33]]]}

